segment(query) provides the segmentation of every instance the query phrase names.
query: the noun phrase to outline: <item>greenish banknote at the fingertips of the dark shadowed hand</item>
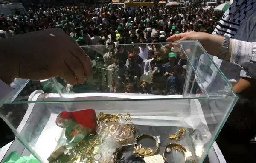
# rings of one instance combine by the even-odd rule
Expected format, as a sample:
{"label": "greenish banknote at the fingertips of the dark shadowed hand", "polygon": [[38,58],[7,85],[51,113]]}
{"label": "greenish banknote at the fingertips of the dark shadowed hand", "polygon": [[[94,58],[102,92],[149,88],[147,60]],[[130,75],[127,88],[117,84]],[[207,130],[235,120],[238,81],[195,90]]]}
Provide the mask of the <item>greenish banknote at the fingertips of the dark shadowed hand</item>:
{"label": "greenish banknote at the fingertips of the dark shadowed hand", "polygon": [[84,79],[84,84],[111,85],[112,70],[100,67],[92,67],[91,76]]}

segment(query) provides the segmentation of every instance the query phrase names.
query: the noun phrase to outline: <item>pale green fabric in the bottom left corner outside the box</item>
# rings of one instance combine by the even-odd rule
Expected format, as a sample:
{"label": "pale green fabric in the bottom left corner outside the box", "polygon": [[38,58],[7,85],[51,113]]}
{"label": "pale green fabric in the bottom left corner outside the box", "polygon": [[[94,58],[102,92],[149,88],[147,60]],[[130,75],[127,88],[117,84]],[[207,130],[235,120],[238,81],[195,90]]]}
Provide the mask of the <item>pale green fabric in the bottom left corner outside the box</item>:
{"label": "pale green fabric in the bottom left corner outside the box", "polygon": [[3,163],[40,163],[36,158],[29,156],[17,155],[17,152],[12,152]]}

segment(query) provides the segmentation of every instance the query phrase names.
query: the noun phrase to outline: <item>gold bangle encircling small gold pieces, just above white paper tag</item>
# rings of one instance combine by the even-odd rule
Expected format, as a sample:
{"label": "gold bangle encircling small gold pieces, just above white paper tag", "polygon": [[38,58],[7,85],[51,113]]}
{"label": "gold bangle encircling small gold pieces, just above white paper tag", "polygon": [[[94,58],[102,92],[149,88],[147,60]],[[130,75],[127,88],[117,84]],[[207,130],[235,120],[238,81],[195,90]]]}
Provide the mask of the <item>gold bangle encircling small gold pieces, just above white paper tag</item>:
{"label": "gold bangle encircling small gold pieces, just above white paper tag", "polygon": [[[156,149],[155,150],[153,150],[151,148],[143,148],[141,146],[141,144],[136,146],[137,140],[141,139],[141,138],[144,138],[144,137],[145,138],[152,138],[152,139],[154,139],[156,141]],[[141,135],[139,135],[139,136],[137,136],[135,138],[135,141],[134,141],[134,149],[135,149],[134,153],[137,153],[136,157],[152,156],[152,155],[154,155],[157,152],[158,148],[159,148],[159,143],[158,143],[157,139],[153,135],[141,134]]]}

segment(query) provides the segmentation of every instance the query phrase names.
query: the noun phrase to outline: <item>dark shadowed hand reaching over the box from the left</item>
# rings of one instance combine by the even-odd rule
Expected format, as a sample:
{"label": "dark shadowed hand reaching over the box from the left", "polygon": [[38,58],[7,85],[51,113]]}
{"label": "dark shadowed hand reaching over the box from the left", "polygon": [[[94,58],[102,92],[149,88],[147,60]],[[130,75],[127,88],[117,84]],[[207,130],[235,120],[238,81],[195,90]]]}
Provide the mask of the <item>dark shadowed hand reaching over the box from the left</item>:
{"label": "dark shadowed hand reaching over the box from the left", "polygon": [[61,77],[83,83],[93,63],[63,30],[52,28],[0,40],[0,79],[42,80]]}

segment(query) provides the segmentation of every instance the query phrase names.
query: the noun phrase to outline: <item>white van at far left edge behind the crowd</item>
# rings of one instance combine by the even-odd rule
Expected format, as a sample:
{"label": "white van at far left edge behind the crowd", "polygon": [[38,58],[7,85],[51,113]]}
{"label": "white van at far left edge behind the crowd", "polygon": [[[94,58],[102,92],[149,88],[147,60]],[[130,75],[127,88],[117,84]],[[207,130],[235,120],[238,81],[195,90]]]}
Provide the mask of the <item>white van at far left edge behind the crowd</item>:
{"label": "white van at far left edge behind the crowd", "polygon": [[0,3],[0,13],[7,15],[26,14],[26,10],[21,3]]}

